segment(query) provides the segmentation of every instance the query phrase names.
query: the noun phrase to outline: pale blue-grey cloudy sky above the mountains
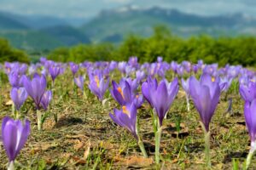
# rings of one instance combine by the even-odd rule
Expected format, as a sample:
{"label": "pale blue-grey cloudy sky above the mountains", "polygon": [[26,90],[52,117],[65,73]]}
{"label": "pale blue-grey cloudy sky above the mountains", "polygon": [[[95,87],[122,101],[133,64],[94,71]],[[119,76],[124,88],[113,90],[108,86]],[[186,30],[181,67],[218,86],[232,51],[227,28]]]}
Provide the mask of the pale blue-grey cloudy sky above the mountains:
{"label": "pale blue-grey cloudy sky above the mountains", "polygon": [[119,8],[128,4],[139,8],[177,8],[192,14],[241,12],[256,17],[255,0],[0,0],[0,10],[15,14],[88,18],[95,16],[102,9]]}

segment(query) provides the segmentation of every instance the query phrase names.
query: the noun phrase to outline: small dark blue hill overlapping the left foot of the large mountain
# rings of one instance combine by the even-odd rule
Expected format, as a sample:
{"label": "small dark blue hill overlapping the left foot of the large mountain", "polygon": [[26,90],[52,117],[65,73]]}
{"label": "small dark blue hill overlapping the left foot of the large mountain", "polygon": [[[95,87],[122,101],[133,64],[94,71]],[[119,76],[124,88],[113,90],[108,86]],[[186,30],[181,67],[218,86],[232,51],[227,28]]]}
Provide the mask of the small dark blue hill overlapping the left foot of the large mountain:
{"label": "small dark blue hill overlapping the left foot of the large mountain", "polygon": [[73,28],[72,26],[53,26],[44,28],[41,31],[55,37],[67,46],[90,42],[90,39],[86,37],[84,33]]}

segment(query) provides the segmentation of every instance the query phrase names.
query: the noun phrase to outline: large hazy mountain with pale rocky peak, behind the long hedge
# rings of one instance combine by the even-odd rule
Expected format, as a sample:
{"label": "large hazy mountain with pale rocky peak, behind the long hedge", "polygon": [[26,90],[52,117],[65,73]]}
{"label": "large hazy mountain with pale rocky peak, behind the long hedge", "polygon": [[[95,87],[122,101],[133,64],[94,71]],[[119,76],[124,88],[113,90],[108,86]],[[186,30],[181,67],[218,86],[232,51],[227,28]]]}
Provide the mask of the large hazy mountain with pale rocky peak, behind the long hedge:
{"label": "large hazy mountain with pale rocky peak, behind the long hedge", "polygon": [[200,16],[186,14],[177,9],[141,9],[128,6],[102,11],[95,19],[81,26],[81,31],[90,35],[92,41],[101,42],[113,35],[125,37],[129,33],[147,37],[152,34],[152,27],[157,25],[166,25],[181,37],[202,33],[214,37],[236,36],[252,33],[255,35],[253,27],[256,26],[256,20],[244,14]]}

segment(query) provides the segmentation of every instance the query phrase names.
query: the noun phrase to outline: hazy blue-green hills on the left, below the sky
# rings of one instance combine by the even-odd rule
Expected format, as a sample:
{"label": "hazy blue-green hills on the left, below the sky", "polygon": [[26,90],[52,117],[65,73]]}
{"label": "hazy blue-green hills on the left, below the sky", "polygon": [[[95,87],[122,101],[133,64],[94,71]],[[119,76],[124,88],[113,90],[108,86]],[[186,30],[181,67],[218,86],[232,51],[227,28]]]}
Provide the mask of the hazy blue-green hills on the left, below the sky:
{"label": "hazy blue-green hills on the left, below the sky", "polygon": [[[70,22],[81,24],[83,19],[71,21],[50,16],[25,16],[0,12],[0,37],[9,39],[16,48],[26,50],[53,49],[89,43],[90,39]],[[87,20],[83,20],[86,22]],[[75,24],[74,24],[75,25]]]}

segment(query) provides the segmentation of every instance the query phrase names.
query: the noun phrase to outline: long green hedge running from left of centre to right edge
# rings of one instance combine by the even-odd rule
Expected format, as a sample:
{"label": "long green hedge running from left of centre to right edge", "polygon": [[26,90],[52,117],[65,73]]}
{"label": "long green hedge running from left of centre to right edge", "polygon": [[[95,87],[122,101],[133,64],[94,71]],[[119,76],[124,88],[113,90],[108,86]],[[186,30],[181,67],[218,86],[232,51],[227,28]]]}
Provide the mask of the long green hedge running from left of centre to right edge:
{"label": "long green hedge running from left of centre to right edge", "polygon": [[166,61],[203,59],[219,65],[256,65],[256,37],[209,37],[207,35],[183,39],[165,27],[154,28],[151,37],[126,37],[120,45],[112,43],[80,44],[72,48],[56,48],[49,59],[56,61],[127,60],[137,56],[140,62],[152,62],[158,56]]}

